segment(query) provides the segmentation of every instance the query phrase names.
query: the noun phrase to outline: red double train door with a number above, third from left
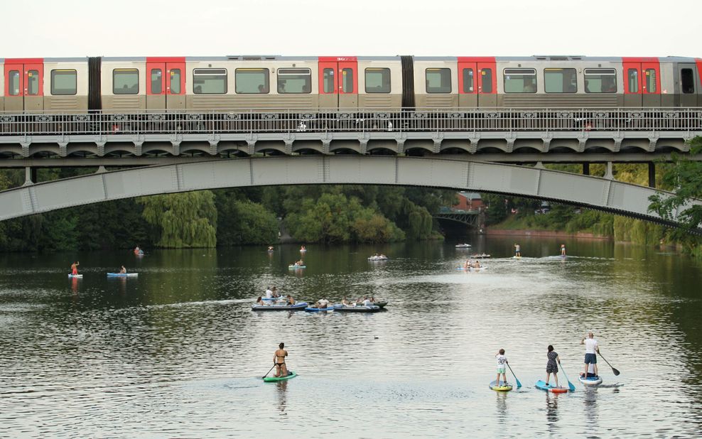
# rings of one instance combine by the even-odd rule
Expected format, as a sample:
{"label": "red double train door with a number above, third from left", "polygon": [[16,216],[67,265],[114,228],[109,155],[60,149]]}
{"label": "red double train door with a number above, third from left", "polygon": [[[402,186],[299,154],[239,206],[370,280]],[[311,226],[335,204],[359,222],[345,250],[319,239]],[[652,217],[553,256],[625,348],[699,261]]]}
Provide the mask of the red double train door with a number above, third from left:
{"label": "red double train door with a number above, third from left", "polygon": [[358,108],[358,63],[355,57],[319,58],[319,107]]}

